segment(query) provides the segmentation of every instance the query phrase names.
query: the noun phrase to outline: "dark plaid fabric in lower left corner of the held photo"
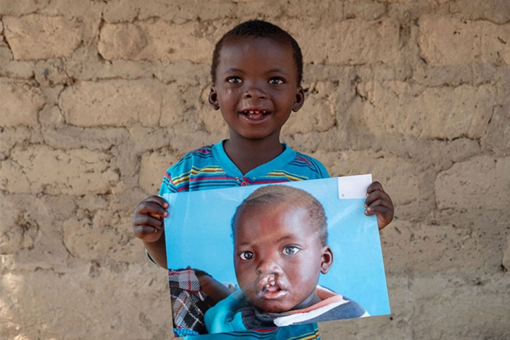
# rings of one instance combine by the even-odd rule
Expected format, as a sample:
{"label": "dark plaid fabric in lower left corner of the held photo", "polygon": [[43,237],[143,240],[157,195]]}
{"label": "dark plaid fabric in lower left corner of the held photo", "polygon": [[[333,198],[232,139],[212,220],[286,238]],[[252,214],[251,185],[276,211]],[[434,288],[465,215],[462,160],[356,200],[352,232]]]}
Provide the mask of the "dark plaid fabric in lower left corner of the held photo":
{"label": "dark plaid fabric in lower left corner of the held photo", "polygon": [[191,268],[169,270],[170,301],[176,336],[207,334],[205,312],[214,305],[200,290],[200,282]]}

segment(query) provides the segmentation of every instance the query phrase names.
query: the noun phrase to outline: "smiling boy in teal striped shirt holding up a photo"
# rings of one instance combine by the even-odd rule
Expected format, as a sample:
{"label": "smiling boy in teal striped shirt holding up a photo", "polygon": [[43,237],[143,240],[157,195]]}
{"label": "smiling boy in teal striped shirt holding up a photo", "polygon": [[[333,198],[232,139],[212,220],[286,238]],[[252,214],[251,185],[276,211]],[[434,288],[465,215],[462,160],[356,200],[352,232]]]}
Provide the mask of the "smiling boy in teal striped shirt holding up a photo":
{"label": "smiling boy in teal striped shirt holding up a photo", "polygon": [[[217,42],[211,77],[209,102],[222,113],[229,139],[186,154],[166,171],[159,195],[328,177],[316,159],[280,143],[282,126],[305,101],[300,86],[302,55],[291,35],[264,21],[241,23]],[[368,187],[365,205],[366,215],[377,215],[380,229],[391,222],[392,201],[380,183]],[[163,232],[167,208],[165,200],[151,196],[137,205],[132,223],[150,258],[164,268],[169,268]],[[317,325],[306,326],[266,330],[256,336],[319,339]],[[241,336],[235,335],[235,339]],[[222,334],[220,339],[228,336]]]}

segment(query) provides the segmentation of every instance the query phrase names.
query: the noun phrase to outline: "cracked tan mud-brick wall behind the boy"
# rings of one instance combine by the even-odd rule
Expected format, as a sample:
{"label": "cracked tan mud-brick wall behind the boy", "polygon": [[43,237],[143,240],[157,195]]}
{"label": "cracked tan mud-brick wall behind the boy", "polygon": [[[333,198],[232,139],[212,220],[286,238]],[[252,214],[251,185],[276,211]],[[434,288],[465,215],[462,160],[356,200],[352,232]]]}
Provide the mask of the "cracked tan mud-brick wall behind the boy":
{"label": "cracked tan mud-brick wall behind the boy", "polygon": [[0,0],[0,338],[171,337],[132,211],[227,137],[210,57],[251,18],[302,47],[283,142],[395,203],[392,314],[322,339],[510,339],[508,0]]}

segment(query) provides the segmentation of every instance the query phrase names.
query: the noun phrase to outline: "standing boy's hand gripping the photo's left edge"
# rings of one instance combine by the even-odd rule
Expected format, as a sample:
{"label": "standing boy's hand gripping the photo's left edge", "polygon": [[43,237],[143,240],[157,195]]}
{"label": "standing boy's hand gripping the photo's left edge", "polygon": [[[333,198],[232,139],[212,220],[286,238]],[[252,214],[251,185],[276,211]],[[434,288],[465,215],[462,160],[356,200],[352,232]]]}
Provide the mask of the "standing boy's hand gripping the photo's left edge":
{"label": "standing boy's hand gripping the photo's left edge", "polygon": [[157,242],[163,234],[163,220],[168,216],[169,204],[159,196],[142,200],[133,213],[132,227],[135,236],[144,242]]}

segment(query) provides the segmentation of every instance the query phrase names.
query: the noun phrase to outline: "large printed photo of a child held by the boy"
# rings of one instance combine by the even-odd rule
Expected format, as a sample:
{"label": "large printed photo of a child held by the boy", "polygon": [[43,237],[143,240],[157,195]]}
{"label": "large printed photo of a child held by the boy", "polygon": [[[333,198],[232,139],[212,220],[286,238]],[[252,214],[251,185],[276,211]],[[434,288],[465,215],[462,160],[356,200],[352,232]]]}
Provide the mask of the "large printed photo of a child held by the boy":
{"label": "large printed photo of a child held by the boy", "polygon": [[377,222],[363,213],[371,179],[363,179],[359,198],[346,189],[350,178],[337,181],[165,197],[174,333],[305,327],[389,314]]}

